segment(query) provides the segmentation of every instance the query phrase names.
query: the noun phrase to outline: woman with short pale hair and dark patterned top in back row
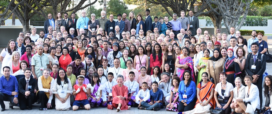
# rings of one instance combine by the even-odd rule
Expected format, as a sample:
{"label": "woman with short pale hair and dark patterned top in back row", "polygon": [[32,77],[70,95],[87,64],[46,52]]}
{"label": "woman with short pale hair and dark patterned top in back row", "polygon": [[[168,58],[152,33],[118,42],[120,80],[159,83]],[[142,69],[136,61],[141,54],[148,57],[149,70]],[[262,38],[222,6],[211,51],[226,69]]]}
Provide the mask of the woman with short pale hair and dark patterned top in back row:
{"label": "woman with short pale hair and dark patterned top in back row", "polygon": [[97,28],[99,28],[99,21],[95,19],[95,14],[91,14],[91,19],[88,21],[88,30],[89,30],[89,36],[92,35],[93,31],[97,32]]}

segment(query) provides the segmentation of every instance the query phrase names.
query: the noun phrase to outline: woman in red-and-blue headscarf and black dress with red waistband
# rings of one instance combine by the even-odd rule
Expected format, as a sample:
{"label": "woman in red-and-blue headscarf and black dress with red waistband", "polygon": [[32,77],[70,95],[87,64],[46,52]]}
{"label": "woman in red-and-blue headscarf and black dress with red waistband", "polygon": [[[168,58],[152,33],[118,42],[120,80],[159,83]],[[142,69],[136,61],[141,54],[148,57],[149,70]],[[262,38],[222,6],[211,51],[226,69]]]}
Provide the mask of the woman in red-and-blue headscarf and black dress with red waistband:
{"label": "woman in red-and-blue headscarf and black dress with red waistband", "polygon": [[227,82],[230,82],[233,87],[235,87],[234,79],[236,77],[240,77],[240,74],[242,73],[239,67],[239,64],[234,62],[235,56],[233,55],[233,49],[229,48],[227,50],[228,59],[225,62],[224,65],[224,72],[227,74]]}

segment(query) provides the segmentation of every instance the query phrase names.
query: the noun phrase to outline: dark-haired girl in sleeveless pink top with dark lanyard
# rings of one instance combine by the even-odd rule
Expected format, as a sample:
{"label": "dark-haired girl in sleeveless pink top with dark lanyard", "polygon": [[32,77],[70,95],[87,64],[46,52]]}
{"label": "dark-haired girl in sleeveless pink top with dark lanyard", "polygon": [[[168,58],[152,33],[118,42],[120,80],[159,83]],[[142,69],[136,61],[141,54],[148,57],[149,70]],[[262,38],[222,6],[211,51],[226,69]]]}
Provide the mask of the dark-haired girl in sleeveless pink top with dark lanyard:
{"label": "dark-haired girl in sleeveless pink top with dark lanyard", "polygon": [[139,46],[136,55],[135,55],[135,59],[134,59],[134,67],[136,70],[138,70],[139,74],[140,72],[140,68],[142,66],[148,66],[148,56],[145,55],[145,51],[144,51],[144,47],[143,46]]}

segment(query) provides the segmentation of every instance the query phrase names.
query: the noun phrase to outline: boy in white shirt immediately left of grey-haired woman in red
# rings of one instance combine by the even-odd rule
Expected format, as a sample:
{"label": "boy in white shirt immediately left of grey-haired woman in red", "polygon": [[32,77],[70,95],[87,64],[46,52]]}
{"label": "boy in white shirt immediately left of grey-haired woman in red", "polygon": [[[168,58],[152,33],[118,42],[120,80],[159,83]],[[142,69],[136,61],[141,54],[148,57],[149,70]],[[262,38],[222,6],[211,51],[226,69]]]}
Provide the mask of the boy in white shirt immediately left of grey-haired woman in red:
{"label": "boy in white shirt immediately left of grey-haired woman in red", "polygon": [[105,103],[112,102],[112,87],[114,85],[117,85],[117,83],[115,81],[112,81],[112,79],[114,78],[113,73],[109,72],[108,73],[108,82],[104,83],[104,87],[105,89],[102,90],[102,99],[103,99],[103,103],[102,105],[104,105]]}

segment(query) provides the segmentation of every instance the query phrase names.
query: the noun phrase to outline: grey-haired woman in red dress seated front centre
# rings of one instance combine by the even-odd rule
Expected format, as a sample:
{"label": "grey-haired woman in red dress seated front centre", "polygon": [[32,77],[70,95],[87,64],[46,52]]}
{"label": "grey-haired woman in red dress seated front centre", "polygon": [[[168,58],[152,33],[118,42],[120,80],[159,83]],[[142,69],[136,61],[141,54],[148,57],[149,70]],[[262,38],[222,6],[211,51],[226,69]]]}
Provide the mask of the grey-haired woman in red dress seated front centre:
{"label": "grey-haired woman in red dress seated front centre", "polygon": [[130,109],[130,106],[127,106],[128,97],[127,97],[127,86],[123,85],[124,77],[122,75],[117,76],[117,85],[112,87],[112,105],[116,109],[116,112],[120,110]]}

